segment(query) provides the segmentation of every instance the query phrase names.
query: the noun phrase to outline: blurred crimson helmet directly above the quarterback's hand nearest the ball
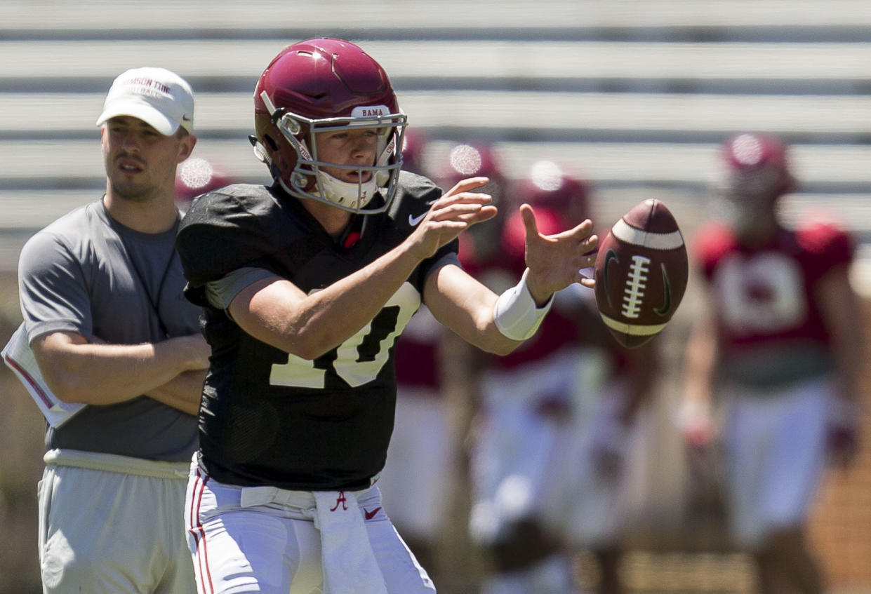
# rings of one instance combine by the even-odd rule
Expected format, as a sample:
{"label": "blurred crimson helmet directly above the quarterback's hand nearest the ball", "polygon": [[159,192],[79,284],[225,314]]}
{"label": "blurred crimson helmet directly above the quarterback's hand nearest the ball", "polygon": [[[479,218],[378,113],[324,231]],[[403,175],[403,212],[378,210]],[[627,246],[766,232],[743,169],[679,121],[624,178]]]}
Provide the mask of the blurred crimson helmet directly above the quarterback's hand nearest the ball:
{"label": "blurred crimson helmet directly above the quarterback's hand nearest the ball", "polygon": [[566,175],[553,161],[537,161],[517,189],[517,204],[561,212],[566,223],[574,226],[591,217],[589,195],[587,184]]}

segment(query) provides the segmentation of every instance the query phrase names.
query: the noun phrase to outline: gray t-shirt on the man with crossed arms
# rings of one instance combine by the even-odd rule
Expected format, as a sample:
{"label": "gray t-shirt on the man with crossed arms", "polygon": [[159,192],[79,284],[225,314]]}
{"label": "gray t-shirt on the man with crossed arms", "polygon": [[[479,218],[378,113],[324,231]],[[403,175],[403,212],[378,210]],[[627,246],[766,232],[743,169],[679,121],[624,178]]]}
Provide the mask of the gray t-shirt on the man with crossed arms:
{"label": "gray t-shirt on the man with crossed arms", "polygon": [[[57,330],[112,344],[156,343],[199,333],[199,307],[182,294],[177,225],[165,233],[129,229],[102,200],[39,231],[21,252],[19,295],[28,340]],[[152,460],[190,460],[196,417],[149,397],[86,406],[46,446]]]}

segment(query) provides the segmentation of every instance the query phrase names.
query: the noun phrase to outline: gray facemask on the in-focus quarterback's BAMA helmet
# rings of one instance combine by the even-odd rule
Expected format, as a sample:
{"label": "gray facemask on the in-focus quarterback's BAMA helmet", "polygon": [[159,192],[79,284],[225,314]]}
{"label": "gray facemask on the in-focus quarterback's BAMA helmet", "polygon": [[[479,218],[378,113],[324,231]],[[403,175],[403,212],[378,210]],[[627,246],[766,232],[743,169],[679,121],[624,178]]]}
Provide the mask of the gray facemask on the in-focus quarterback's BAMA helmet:
{"label": "gray facemask on the in-focus quarterback's BAMA helmet", "polygon": [[[390,113],[382,105],[356,107],[350,117],[314,119],[276,109],[265,90],[260,93],[260,98],[269,112],[273,128],[278,130],[296,153],[295,164],[289,175],[280,175],[281,168],[270,166],[273,177],[285,191],[297,197],[310,198],[359,214],[377,214],[388,209],[395,196],[402,168],[402,136],[407,125],[402,111]],[[319,159],[317,135],[331,130],[348,129],[376,130],[378,140],[374,164],[343,165]],[[270,164],[271,151],[258,144],[255,145],[255,154],[261,161]],[[280,147],[276,147],[276,150],[280,150]],[[344,182],[322,170],[323,167],[353,170],[360,181]],[[368,180],[364,182],[362,180],[367,177],[366,174],[369,174]],[[367,208],[378,193],[382,200]]]}

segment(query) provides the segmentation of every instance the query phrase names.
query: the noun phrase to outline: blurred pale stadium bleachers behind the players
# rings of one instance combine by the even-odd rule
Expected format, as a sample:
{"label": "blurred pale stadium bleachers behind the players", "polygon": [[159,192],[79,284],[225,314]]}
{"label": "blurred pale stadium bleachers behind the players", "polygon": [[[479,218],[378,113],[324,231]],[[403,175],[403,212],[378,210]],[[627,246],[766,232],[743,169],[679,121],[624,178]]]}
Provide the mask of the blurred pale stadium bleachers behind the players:
{"label": "blurred pale stadium bleachers behind the players", "polygon": [[[327,8],[328,10],[324,10]],[[3,2],[0,267],[104,176],[93,121],[111,79],[163,65],[198,91],[197,152],[262,181],[251,90],[277,49],[359,41],[390,73],[429,163],[494,143],[512,177],[553,158],[618,215],[656,192],[705,216],[714,151],[735,130],[793,143],[801,192],[871,239],[871,5],[773,0],[617,2]],[[619,190],[613,191],[611,190]],[[634,191],[633,191],[634,190]],[[684,204],[685,203],[685,204]]]}

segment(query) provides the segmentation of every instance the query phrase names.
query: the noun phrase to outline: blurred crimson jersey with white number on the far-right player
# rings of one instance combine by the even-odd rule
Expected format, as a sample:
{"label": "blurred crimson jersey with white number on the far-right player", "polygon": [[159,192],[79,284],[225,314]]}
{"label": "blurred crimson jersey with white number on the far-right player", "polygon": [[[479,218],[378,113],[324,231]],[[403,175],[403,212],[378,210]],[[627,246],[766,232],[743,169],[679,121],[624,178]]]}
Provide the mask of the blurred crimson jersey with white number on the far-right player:
{"label": "blurred crimson jersey with white number on the far-right player", "polygon": [[827,271],[852,261],[854,246],[845,232],[813,224],[780,230],[754,248],[719,224],[697,237],[693,251],[712,290],[724,377],[773,388],[832,370],[815,289]]}

